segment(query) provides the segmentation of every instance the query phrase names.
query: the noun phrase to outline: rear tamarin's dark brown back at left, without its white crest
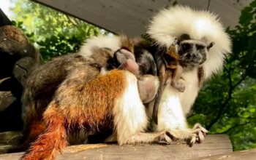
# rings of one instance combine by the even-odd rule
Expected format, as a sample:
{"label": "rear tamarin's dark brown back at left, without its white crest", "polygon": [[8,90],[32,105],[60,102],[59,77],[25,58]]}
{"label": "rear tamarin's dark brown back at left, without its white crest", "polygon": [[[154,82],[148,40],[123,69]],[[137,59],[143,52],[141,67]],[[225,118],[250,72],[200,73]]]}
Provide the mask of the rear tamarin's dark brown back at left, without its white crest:
{"label": "rear tamarin's dark brown back at left, without its white crest", "polygon": [[86,80],[93,79],[99,74],[97,66],[88,65],[88,61],[78,54],[56,57],[48,63],[34,66],[23,91],[23,134],[26,141],[20,150],[26,148],[29,143],[34,141],[35,137],[45,130],[42,113],[53,99],[53,94],[59,84],[75,68],[92,68],[89,70],[91,72],[87,71]]}

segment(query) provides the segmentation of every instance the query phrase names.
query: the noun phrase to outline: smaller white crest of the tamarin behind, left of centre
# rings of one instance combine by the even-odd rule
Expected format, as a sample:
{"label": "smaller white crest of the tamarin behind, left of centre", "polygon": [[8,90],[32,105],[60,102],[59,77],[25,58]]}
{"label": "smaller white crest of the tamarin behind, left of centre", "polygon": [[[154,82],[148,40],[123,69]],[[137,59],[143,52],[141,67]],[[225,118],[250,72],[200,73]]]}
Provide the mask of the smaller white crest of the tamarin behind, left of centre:
{"label": "smaller white crest of the tamarin behind, left of centre", "polygon": [[120,36],[94,36],[86,40],[86,42],[80,48],[78,54],[90,58],[90,56],[93,54],[91,49],[94,47],[109,48],[116,51],[121,47]]}

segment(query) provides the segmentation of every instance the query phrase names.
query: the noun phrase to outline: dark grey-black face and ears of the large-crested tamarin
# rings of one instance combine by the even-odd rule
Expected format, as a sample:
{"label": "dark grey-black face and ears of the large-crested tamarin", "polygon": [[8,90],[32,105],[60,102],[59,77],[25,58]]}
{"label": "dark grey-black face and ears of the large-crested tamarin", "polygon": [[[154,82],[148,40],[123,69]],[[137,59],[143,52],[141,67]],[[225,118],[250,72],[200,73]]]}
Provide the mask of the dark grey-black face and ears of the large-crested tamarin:
{"label": "dark grey-black face and ears of the large-crested tamarin", "polygon": [[214,45],[213,42],[207,46],[203,41],[190,39],[188,34],[182,34],[177,44],[179,63],[184,66],[203,64],[208,57],[208,49]]}

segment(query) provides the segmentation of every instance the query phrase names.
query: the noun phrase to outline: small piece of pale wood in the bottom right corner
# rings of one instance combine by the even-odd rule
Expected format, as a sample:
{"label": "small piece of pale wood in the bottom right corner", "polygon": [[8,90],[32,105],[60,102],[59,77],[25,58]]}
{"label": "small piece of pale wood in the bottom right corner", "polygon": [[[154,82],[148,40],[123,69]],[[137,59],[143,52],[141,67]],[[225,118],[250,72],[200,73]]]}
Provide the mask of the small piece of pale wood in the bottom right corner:
{"label": "small piece of pale wood in the bottom right corner", "polygon": [[[217,156],[206,156],[200,158],[201,160],[214,160],[214,159],[223,159],[223,160],[255,160],[256,159],[256,149],[244,150],[244,151],[236,151],[227,154],[220,154]],[[200,160],[195,159],[195,160]]]}

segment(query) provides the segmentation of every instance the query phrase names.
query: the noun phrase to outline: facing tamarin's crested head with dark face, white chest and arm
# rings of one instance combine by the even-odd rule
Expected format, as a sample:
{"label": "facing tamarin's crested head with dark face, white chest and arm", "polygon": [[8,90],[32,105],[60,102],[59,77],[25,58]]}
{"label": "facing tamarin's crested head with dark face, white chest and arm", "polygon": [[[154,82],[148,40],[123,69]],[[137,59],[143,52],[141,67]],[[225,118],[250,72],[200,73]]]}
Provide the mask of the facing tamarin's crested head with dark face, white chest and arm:
{"label": "facing tamarin's crested head with dark face, white chest and arm", "polygon": [[[182,6],[160,10],[148,25],[147,33],[159,48],[155,57],[160,60],[178,39],[178,63],[183,68],[181,79],[185,82],[184,92],[170,85],[164,87],[156,129],[169,129],[174,137],[186,140],[189,146],[201,143],[207,130],[200,124],[190,129],[186,116],[203,82],[222,69],[230,53],[230,37],[217,15]],[[170,76],[167,81],[171,81]],[[150,106],[148,114],[152,115],[154,103]]]}

